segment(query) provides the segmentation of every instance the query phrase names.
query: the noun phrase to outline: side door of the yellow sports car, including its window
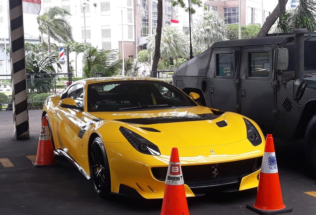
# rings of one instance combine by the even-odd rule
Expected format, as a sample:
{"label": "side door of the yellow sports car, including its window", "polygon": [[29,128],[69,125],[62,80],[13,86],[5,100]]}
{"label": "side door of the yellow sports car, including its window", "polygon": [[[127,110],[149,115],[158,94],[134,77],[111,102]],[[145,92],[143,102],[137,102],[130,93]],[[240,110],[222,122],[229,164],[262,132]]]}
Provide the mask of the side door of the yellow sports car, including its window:
{"label": "side door of the yellow sports car, including its window", "polygon": [[76,157],[76,148],[80,144],[78,136],[80,128],[85,124],[82,121],[83,117],[83,84],[75,84],[69,88],[67,93],[62,96],[62,99],[73,98],[76,107],[61,107],[57,108],[54,114],[59,120],[56,120],[59,128],[60,147],[67,151],[73,158]]}

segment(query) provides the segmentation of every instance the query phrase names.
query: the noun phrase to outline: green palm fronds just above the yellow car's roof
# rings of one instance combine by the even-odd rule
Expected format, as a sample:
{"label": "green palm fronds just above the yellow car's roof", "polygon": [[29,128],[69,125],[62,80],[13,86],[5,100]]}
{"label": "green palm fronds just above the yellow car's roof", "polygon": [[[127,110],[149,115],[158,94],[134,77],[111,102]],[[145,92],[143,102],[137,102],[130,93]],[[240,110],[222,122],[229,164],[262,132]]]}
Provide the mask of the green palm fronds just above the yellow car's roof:
{"label": "green palm fronds just above the yellow car's roof", "polygon": [[102,73],[104,77],[115,76],[122,70],[117,50],[98,50],[94,47],[83,52],[82,65],[85,78],[95,77],[96,73]]}

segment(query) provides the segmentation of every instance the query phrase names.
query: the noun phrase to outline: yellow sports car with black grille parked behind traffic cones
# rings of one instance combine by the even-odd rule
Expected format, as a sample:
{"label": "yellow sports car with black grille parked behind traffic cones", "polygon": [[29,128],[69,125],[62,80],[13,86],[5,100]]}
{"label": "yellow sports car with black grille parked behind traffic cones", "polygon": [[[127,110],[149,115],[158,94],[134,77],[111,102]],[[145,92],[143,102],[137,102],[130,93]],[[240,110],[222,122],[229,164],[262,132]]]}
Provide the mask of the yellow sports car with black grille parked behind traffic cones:
{"label": "yellow sports car with black grille parked behind traffic cones", "polygon": [[48,97],[42,116],[55,154],[92,179],[102,197],[163,198],[172,147],[187,197],[257,187],[260,128],[237,113],[199,106],[198,98],[159,79],[90,78]]}

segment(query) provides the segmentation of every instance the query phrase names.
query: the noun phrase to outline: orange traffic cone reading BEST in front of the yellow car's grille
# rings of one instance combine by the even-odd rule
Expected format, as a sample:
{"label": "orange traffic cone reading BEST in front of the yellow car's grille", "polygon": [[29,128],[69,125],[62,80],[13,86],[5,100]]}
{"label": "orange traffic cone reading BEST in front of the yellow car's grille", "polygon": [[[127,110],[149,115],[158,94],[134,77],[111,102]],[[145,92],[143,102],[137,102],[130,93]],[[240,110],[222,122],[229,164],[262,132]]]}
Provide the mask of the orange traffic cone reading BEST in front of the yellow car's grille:
{"label": "orange traffic cone reading BEST in front of the yellow car's grille", "polygon": [[172,148],[160,215],[189,215],[177,148]]}

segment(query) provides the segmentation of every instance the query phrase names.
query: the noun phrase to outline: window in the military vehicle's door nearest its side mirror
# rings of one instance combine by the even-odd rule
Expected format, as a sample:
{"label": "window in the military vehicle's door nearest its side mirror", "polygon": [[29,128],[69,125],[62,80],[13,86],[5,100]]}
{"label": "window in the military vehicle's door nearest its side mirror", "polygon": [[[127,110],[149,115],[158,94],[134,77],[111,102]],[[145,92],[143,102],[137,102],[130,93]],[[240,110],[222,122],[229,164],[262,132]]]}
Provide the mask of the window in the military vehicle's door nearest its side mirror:
{"label": "window in the military vehicle's door nearest its side mirror", "polygon": [[269,77],[270,52],[249,53],[249,64],[249,77]]}

